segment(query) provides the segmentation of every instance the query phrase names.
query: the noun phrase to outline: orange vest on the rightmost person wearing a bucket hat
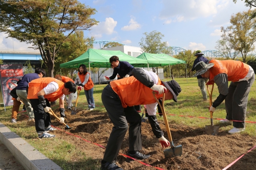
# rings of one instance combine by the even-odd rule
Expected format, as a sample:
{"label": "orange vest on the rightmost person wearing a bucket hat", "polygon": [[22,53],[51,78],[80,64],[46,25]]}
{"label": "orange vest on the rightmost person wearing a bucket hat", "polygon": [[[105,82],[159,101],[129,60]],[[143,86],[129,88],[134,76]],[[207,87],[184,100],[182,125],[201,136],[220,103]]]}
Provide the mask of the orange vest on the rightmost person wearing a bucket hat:
{"label": "orange vest on the rightmost person wearing a bucket hat", "polygon": [[226,73],[228,75],[228,81],[236,82],[239,79],[245,78],[249,72],[249,65],[242,61],[212,59],[209,63],[214,64],[213,67],[209,68],[209,80],[213,80],[220,73]]}

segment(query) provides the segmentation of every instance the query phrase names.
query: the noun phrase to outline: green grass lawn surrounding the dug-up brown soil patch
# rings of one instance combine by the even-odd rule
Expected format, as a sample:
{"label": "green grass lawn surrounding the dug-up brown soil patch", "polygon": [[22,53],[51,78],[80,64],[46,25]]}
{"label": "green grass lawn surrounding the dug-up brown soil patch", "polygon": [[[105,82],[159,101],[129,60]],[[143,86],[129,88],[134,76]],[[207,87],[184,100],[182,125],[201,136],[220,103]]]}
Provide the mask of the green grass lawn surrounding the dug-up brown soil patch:
{"label": "green grass lawn surrounding the dug-up brown soil patch", "polygon": [[[168,81],[170,79],[165,79]],[[169,122],[178,125],[187,125],[190,127],[204,128],[205,125],[210,125],[210,119],[197,118],[197,117],[210,117],[210,113],[207,107],[209,107],[209,100],[203,102],[201,91],[197,86],[197,78],[175,78],[175,80],[180,84],[182,92],[178,96],[178,102],[175,103],[173,100],[165,101],[165,110]],[[106,112],[102,102],[101,93],[106,85],[95,85],[94,88],[94,99],[96,105],[96,111]],[[212,86],[209,86],[211,90]],[[218,96],[218,88],[215,85],[213,90],[213,101]],[[246,121],[256,122],[256,83],[251,88],[249,94],[249,100],[247,105],[247,118]],[[22,109],[20,107],[20,110]],[[57,109],[58,105],[52,107],[52,109]],[[77,109],[87,109],[88,104],[86,102],[85,94],[81,91],[79,95],[79,102]],[[16,124],[10,123],[12,114],[12,106],[7,106],[6,111],[3,106],[0,107],[0,122],[9,127],[10,130],[16,132],[19,136],[25,139],[29,144],[38,149],[40,152],[45,154],[48,158],[52,159],[55,163],[62,166],[65,170],[80,169],[81,167],[90,167],[93,169],[100,169],[100,163],[94,161],[90,156],[86,156],[83,152],[77,152],[72,146],[72,144],[62,141],[61,139],[54,139],[55,142],[50,140],[42,140],[40,143],[36,142],[37,137],[35,127],[27,127],[26,121],[18,122]],[[168,114],[174,114],[175,116],[170,116]],[[225,104],[224,102],[217,107],[216,111],[213,113],[213,118],[225,118]],[[18,115],[19,116],[19,115]],[[184,116],[184,117],[181,117]],[[196,118],[189,118],[187,116],[195,116]],[[159,118],[163,120],[163,118]],[[213,120],[215,125],[220,125],[219,120]],[[232,129],[232,125],[223,126],[220,125],[220,131],[226,131]],[[248,134],[250,136],[256,136],[256,125],[254,123],[246,123],[246,130],[242,133]],[[50,144],[49,144],[50,143]],[[62,145],[59,145],[62,143]],[[69,158],[77,157],[78,161],[74,165]],[[77,165],[77,163],[79,165]],[[80,168],[79,168],[80,167]],[[89,168],[88,168],[89,169]]]}

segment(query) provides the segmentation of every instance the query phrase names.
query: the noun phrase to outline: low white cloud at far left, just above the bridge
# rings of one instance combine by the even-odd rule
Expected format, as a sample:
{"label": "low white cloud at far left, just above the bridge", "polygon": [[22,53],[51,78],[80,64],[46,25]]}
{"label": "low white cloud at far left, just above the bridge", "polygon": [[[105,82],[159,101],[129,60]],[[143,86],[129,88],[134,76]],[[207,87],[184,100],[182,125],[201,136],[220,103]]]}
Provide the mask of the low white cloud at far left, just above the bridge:
{"label": "low white cloud at far left, just above the bridge", "polygon": [[15,38],[6,38],[8,35],[5,33],[0,33],[0,49],[28,49],[28,47],[32,47],[31,44],[26,44],[24,42],[19,42],[19,40]]}

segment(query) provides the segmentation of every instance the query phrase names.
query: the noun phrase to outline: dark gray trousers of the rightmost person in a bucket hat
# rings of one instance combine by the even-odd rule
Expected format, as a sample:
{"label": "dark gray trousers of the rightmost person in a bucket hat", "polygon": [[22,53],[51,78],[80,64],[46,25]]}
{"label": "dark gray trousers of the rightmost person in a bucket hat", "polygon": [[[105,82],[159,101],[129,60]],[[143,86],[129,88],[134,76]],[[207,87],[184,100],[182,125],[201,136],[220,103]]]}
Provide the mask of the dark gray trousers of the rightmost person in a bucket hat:
{"label": "dark gray trousers of the rightmost person in a bucket hat", "polygon": [[244,120],[246,116],[248,96],[254,80],[255,74],[253,74],[248,81],[231,82],[228,87],[228,96],[225,98],[227,112],[226,119],[242,121],[233,121],[234,127],[245,127]]}

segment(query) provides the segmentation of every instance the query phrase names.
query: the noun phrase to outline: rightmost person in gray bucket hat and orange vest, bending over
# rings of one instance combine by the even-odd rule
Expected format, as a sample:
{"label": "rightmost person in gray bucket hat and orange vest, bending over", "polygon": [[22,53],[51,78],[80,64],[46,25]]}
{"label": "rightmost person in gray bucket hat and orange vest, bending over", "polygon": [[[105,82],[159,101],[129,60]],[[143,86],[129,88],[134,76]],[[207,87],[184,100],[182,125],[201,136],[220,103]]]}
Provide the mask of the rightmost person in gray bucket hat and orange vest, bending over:
{"label": "rightmost person in gray bucket hat and orange vest, bending over", "polygon": [[[255,80],[251,66],[242,61],[212,59],[208,64],[200,61],[194,68],[197,73],[193,77],[201,75],[209,78],[208,85],[216,83],[218,86],[219,95],[209,112],[214,112],[225,100],[227,116],[221,122],[233,123],[234,128],[228,131],[230,134],[244,131],[248,95]],[[231,81],[229,87],[228,81]]]}

